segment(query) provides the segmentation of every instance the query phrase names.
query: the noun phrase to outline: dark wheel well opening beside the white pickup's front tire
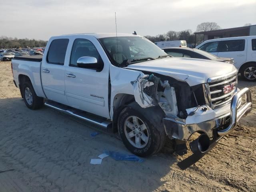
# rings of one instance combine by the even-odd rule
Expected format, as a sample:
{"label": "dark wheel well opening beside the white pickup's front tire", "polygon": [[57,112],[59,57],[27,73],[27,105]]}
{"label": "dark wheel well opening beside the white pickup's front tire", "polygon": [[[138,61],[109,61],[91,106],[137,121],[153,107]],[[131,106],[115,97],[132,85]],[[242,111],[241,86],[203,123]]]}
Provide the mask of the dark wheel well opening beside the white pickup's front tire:
{"label": "dark wheel well opening beside the white pickup's front tire", "polygon": [[114,114],[113,114],[113,123],[112,123],[112,128],[113,128],[113,132],[117,132],[117,121],[118,121],[118,116],[120,114],[120,112],[131,102],[133,102],[135,100],[134,95],[130,95],[130,94],[117,94],[114,97],[113,100],[113,110],[114,110]]}

